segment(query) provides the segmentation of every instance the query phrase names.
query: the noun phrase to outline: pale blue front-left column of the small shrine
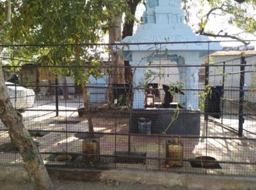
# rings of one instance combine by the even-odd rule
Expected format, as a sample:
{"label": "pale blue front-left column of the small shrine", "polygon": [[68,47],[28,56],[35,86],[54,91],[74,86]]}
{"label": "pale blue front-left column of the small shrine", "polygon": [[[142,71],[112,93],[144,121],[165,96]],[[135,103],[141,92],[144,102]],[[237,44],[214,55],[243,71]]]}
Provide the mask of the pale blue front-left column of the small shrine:
{"label": "pale blue front-left column of the small shrine", "polygon": [[[135,65],[131,63],[131,65]],[[133,109],[144,109],[144,68],[133,68]]]}

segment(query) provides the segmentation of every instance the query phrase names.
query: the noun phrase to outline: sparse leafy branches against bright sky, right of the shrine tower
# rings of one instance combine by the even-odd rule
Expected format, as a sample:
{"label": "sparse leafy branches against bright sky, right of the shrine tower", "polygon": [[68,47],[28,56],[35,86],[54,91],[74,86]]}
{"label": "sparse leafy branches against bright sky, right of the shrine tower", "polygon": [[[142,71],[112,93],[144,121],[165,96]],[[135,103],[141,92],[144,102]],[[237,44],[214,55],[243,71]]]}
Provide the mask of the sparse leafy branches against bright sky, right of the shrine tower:
{"label": "sparse leafy branches against bright sky, right of the shrine tower", "polygon": [[[231,37],[233,39],[242,39],[244,33],[254,34],[256,31],[255,0],[236,1],[236,0],[208,0],[208,1],[186,1],[184,0],[184,10],[186,11],[186,21],[190,18],[198,18],[196,26],[192,24],[196,32],[213,37]],[[192,16],[192,9],[201,7]],[[216,31],[213,23],[221,23],[223,29]],[[227,28],[236,28],[234,32],[228,33]],[[230,32],[230,31],[229,31]]]}

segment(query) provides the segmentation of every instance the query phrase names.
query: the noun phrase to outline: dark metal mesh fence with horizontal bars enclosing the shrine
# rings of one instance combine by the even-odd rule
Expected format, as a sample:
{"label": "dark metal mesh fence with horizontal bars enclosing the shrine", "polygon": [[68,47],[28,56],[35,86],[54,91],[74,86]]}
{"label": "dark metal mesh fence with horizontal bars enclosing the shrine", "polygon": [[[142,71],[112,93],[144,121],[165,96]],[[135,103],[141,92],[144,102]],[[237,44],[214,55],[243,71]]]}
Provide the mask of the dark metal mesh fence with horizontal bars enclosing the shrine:
{"label": "dark metal mesh fence with horizontal bars enclosing the shrine", "polygon": [[[255,176],[256,56],[209,64],[202,60],[193,66],[203,70],[198,73],[203,79],[198,88],[179,86],[179,68],[188,66],[177,66],[165,60],[163,54],[162,59],[145,66],[119,64],[119,71],[112,70],[110,58],[100,66],[87,60],[79,66],[75,62],[46,66],[35,64],[37,59],[18,56],[21,48],[39,52],[40,48],[56,47],[6,46],[1,56],[6,80],[11,82],[7,88],[12,104],[22,113],[46,165]],[[60,47],[63,51],[67,48]],[[245,64],[249,59],[250,64]],[[134,85],[128,79],[141,67],[148,78],[143,85]],[[99,68],[102,73],[100,77],[88,77],[90,109],[84,109],[83,88],[74,83],[71,68]],[[127,68],[130,75],[122,76],[125,79],[120,83],[119,72]],[[250,78],[250,83],[245,86],[241,77],[245,81]],[[143,99],[135,96],[136,90],[143,92]],[[201,105],[200,110],[184,108],[186,94],[199,96],[196,104]],[[144,108],[133,109],[135,101],[143,102]],[[89,117],[93,132],[89,132]],[[22,163],[2,123],[0,150],[0,164]]]}

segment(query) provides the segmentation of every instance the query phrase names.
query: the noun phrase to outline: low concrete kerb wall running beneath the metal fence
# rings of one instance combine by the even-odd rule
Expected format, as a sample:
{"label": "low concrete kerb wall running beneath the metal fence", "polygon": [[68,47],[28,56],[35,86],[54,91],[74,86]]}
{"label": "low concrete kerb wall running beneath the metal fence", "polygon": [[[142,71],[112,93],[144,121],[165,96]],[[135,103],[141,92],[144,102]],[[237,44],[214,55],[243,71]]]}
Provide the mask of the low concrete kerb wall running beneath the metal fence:
{"label": "low concrete kerb wall running beneath the metal fence", "polygon": [[[21,166],[1,166],[0,181],[30,182],[28,172]],[[255,189],[255,178],[176,174],[172,172],[142,172],[131,170],[86,170],[78,168],[47,168],[51,180],[119,181],[123,183],[159,184],[171,189]]]}

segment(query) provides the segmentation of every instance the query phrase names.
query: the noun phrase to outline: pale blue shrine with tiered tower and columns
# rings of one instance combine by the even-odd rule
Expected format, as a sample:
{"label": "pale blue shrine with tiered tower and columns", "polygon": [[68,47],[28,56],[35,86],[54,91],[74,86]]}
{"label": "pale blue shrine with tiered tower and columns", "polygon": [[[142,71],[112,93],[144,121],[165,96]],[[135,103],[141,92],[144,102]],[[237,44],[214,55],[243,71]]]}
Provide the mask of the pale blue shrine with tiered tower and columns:
{"label": "pale blue shrine with tiered tower and columns", "polygon": [[[184,23],[181,0],[147,0],[143,24],[135,35],[123,39],[123,43],[131,44],[120,45],[119,48],[123,50],[124,59],[129,60],[134,67],[146,66],[152,60],[167,57],[171,62],[177,63],[179,80],[184,83],[184,88],[197,89],[198,67],[189,66],[199,65],[200,57],[222,49],[219,43],[205,43],[207,41],[210,41],[208,37],[196,35]],[[144,83],[145,70],[145,67],[137,67],[133,72],[134,87]],[[144,109],[143,100],[144,90],[135,90],[133,109]],[[198,92],[187,90],[184,95],[179,96],[179,104],[184,109],[198,110]]]}

